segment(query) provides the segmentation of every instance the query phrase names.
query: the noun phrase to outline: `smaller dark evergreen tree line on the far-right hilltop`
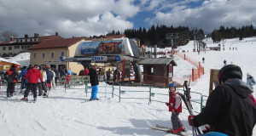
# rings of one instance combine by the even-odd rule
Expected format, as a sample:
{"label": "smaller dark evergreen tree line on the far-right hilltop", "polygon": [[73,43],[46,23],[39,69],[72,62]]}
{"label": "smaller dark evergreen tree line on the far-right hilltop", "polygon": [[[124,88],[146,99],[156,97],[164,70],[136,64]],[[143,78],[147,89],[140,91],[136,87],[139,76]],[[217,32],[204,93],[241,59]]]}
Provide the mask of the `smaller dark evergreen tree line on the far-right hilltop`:
{"label": "smaller dark evergreen tree line on the far-right hilltop", "polygon": [[239,40],[242,40],[244,37],[253,37],[256,36],[256,29],[253,28],[253,25],[250,26],[241,26],[241,28],[236,28],[231,26],[224,28],[220,26],[219,30],[212,31],[212,40],[213,42],[220,42],[223,39],[239,37]]}

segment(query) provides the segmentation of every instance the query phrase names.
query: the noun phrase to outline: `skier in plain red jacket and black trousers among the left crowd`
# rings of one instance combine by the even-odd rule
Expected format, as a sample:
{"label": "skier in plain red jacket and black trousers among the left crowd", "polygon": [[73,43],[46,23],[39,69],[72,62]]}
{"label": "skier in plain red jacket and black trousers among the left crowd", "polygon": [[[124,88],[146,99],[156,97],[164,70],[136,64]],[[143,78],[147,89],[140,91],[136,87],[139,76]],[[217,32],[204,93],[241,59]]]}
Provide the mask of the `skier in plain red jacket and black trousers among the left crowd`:
{"label": "skier in plain red jacket and black trousers among the left crowd", "polygon": [[42,78],[42,74],[38,70],[38,65],[34,65],[33,68],[29,69],[26,72],[26,76],[24,77],[24,80],[26,80],[26,78],[28,79],[28,81],[26,83],[26,91],[24,94],[24,98],[22,98],[20,100],[27,101],[27,96],[28,96],[30,90],[32,89],[34,101],[36,101],[37,100],[38,78],[40,79],[41,82],[44,82],[43,78]]}

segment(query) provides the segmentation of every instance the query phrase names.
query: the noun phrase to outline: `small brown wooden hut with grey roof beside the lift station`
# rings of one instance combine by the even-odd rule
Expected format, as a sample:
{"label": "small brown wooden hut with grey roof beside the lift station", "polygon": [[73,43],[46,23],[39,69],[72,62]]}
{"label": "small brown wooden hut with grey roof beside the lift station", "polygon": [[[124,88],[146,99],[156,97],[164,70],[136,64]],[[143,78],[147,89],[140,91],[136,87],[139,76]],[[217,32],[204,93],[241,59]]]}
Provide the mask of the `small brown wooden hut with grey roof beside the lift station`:
{"label": "small brown wooden hut with grey roof beside the lift station", "polygon": [[168,87],[172,82],[173,66],[177,63],[172,58],[143,59],[143,84]]}

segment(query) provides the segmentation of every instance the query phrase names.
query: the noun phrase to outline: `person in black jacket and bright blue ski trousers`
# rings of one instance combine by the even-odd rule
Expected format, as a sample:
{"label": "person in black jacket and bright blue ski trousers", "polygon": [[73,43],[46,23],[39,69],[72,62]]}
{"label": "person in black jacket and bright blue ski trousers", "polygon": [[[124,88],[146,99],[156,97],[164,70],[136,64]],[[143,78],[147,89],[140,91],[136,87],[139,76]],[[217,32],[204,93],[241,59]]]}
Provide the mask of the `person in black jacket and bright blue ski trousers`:
{"label": "person in black jacket and bright blue ski trousers", "polygon": [[91,98],[90,100],[98,100],[97,99],[97,93],[98,93],[98,85],[99,80],[96,73],[97,65],[93,65],[92,68],[89,70],[90,75],[90,84],[91,84]]}

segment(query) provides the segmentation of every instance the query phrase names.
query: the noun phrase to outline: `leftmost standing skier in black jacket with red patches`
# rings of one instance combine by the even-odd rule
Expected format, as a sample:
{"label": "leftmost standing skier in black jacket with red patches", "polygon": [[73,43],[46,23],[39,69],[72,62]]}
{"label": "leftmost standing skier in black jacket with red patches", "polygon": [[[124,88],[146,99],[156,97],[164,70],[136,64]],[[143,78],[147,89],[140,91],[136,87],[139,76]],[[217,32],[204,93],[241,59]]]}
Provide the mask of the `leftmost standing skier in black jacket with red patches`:
{"label": "leftmost standing skier in black jacket with red patches", "polygon": [[8,82],[7,98],[13,97],[15,93],[15,85],[18,82],[19,73],[16,71],[16,66],[13,64],[11,68],[4,73],[4,79]]}

